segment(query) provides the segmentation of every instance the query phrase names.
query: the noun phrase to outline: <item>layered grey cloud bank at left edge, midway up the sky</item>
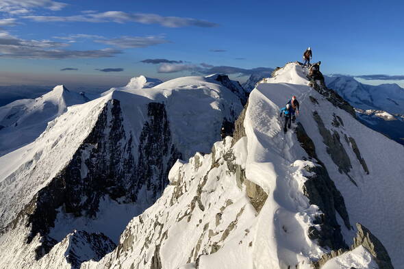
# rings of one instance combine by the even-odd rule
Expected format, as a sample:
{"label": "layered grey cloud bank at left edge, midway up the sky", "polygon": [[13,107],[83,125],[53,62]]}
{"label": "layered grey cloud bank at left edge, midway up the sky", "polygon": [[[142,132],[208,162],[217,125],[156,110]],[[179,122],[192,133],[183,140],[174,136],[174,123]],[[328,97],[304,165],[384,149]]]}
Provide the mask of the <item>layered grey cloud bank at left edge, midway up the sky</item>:
{"label": "layered grey cloud bank at left edge, midway up the sky", "polygon": [[117,49],[75,51],[62,49],[68,44],[51,40],[25,40],[0,32],[0,57],[24,59],[66,59],[112,57]]}

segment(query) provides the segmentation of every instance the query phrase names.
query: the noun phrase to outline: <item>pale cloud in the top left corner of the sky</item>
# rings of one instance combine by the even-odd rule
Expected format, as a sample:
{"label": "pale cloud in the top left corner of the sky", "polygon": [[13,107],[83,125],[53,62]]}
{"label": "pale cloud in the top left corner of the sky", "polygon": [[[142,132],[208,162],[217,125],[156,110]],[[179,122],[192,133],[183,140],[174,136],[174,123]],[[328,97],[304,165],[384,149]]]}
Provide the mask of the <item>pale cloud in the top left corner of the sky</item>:
{"label": "pale cloud in the top left corner of the sky", "polygon": [[0,0],[0,12],[9,14],[26,14],[36,8],[46,8],[47,10],[62,10],[66,3],[53,0]]}

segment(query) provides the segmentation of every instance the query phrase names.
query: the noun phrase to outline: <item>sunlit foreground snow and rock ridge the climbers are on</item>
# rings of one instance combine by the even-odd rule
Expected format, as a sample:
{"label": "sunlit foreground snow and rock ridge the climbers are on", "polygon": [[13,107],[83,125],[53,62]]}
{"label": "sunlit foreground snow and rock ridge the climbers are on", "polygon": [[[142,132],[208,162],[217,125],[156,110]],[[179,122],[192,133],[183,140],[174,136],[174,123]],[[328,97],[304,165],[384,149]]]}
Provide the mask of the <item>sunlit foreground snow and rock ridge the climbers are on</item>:
{"label": "sunlit foreground snow and rock ridge the climbers are on", "polygon": [[[331,105],[307,86],[306,73],[291,63],[259,84],[233,140],[177,162],[171,185],[131,220],[118,248],[81,268],[311,268],[331,248],[352,244],[355,222],[381,240],[395,268],[403,268],[396,246],[404,235],[404,149]],[[301,102],[306,140],[282,130],[279,107],[292,95]],[[394,159],[386,158],[392,153]],[[328,175],[333,183],[317,190],[322,202],[314,203],[310,185]],[[328,239],[327,218],[339,223]],[[365,246],[324,268],[340,264],[377,267]]]}

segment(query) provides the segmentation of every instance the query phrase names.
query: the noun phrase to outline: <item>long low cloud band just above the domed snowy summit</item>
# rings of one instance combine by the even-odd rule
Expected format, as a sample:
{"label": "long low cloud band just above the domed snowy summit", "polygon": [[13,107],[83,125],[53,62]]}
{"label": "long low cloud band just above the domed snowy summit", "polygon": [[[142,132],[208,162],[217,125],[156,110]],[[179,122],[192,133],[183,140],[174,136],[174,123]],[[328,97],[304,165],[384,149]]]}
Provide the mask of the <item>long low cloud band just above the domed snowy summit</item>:
{"label": "long low cloud band just above the domed snowy summit", "polygon": [[252,75],[256,73],[272,72],[273,68],[257,67],[257,68],[240,68],[234,66],[212,66],[210,64],[162,64],[157,68],[159,73],[177,73],[181,71],[190,71],[192,73],[201,73],[204,75],[223,73],[227,75]]}

